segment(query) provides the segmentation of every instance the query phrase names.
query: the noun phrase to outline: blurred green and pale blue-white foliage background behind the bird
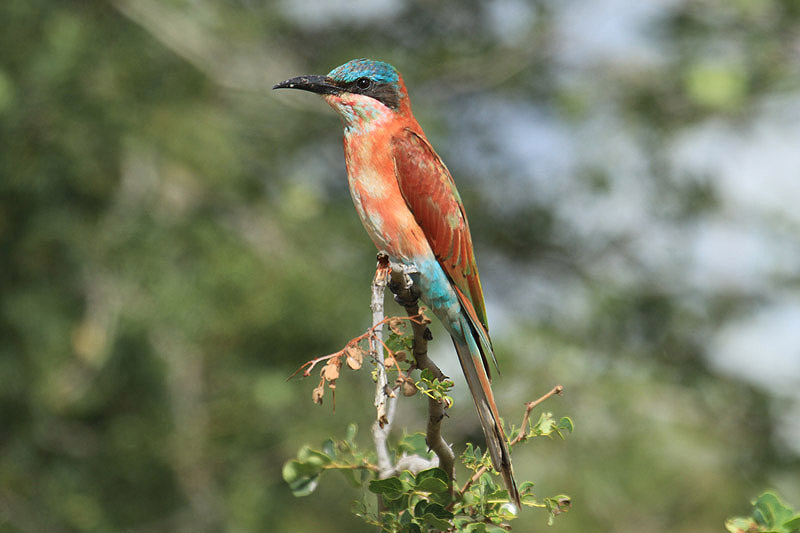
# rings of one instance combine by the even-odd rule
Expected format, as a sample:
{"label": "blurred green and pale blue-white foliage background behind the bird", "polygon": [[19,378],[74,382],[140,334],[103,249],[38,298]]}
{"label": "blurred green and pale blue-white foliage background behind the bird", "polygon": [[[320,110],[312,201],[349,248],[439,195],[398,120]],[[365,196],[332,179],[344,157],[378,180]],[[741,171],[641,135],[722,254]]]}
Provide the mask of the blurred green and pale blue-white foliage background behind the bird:
{"label": "blurred green and pale blue-white foliage background behind the bird", "polygon": [[[800,504],[796,0],[0,3],[0,531],[369,531],[332,474],[368,372],[286,377],[369,324],[339,119],[275,92],[398,67],[470,216],[517,476],[552,531],[722,531]],[[482,436],[456,379],[448,438]],[[404,400],[397,430],[423,427]],[[515,531],[546,528],[525,510]]]}

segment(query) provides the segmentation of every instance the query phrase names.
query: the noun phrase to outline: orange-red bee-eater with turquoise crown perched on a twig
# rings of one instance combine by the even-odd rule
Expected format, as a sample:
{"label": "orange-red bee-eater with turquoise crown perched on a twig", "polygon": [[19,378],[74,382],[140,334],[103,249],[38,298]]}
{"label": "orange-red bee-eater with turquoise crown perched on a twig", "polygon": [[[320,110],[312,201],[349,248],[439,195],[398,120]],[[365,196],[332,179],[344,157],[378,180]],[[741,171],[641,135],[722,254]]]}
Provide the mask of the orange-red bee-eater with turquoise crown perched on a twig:
{"label": "orange-red bee-eater with turquoise crown perched on a twig", "polygon": [[453,338],[492,463],[519,506],[492,394],[494,351],[467,216],[450,172],[411,113],[403,78],[382,61],[355,59],[327,76],[299,76],[273,88],[320,94],[341,116],[361,222],[378,250],[412,272],[422,300]]}

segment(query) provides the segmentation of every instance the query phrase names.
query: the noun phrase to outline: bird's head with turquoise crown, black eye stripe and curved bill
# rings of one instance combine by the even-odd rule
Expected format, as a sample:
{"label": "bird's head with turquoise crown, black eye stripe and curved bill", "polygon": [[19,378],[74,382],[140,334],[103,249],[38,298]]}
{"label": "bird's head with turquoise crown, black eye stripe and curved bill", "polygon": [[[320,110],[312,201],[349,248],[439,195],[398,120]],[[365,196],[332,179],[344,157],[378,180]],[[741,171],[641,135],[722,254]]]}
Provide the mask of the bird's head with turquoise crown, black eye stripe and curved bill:
{"label": "bird's head with turquoise crown, black eye stripe and curved bill", "polygon": [[291,78],[273,89],[302,89],[320,94],[344,120],[346,128],[370,128],[375,121],[410,115],[408,93],[400,73],[388,63],[354,59],[326,76]]}

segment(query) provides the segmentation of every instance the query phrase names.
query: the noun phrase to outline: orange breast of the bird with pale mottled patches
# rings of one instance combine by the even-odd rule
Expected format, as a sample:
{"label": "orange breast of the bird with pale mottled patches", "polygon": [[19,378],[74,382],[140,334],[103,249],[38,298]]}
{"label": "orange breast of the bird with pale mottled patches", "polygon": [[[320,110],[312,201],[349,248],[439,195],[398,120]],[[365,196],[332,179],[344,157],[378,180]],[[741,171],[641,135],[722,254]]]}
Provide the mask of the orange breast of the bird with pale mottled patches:
{"label": "orange breast of the bird with pale mottled patches", "polygon": [[359,218],[375,246],[403,262],[429,251],[403,198],[389,140],[345,135],[347,179]]}

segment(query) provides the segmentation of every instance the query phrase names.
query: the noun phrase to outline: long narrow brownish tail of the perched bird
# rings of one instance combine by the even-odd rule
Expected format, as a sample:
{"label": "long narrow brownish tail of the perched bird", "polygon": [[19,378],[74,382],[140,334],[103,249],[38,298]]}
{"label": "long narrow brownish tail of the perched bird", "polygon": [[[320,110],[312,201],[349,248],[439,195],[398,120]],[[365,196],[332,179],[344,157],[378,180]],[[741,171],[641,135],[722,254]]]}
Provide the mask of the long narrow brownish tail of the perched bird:
{"label": "long narrow brownish tail of the perched bird", "polygon": [[[480,326],[474,324],[467,317],[462,318],[461,330],[464,332],[464,338],[453,337],[453,344],[455,344],[461,369],[464,371],[467,386],[469,386],[478,410],[478,418],[486,437],[486,447],[492,457],[492,464],[503,476],[503,482],[511,500],[519,507],[519,490],[511,468],[511,453],[503,426],[500,424],[500,415],[497,412],[492,385],[486,371],[487,358],[483,352],[491,350],[491,346],[482,342],[482,336],[476,331],[477,327]],[[494,358],[493,354],[492,358]]]}

